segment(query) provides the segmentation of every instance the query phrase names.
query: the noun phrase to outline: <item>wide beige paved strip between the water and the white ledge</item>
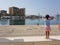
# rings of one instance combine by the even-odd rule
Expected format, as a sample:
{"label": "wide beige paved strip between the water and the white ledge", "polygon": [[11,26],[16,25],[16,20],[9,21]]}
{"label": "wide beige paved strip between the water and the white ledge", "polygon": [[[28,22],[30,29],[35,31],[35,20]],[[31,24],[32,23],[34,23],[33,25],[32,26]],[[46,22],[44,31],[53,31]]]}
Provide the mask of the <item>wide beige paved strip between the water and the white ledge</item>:
{"label": "wide beige paved strip between the water and the white ledge", "polygon": [[[43,25],[0,26],[0,37],[44,36]],[[60,35],[57,25],[51,25],[50,35]]]}

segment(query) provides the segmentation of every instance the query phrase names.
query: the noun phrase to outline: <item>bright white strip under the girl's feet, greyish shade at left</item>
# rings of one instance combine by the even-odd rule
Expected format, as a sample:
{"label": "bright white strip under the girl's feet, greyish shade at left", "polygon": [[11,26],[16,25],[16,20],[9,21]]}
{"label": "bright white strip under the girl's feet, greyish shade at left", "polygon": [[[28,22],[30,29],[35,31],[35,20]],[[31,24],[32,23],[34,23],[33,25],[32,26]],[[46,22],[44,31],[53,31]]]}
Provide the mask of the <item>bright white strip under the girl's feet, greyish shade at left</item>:
{"label": "bright white strip under the girl's feet, greyish shade at left", "polygon": [[23,36],[23,37],[0,37],[1,42],[40,42],[40,41],[60,41],[60,36],[50,36],[50,39],[45,39],[45,36]]}

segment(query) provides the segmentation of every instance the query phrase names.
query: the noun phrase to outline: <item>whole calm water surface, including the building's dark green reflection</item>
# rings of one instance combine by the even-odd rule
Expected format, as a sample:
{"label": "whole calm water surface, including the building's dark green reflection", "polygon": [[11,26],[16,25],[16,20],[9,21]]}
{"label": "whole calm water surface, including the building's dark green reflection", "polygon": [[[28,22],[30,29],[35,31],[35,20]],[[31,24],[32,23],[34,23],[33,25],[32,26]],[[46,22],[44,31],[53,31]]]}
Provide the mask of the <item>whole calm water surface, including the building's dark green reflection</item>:
{"label": "whole calm water surface, including the building's dark green reflection", "polygon": [[[12,21],[2,21],[0,20],[0,25],[7,25],[10,22],[9,25],[44,25],[45,21],[44,19],[24,19],[24,20],[12,20]],[[59,20],[54,18],[50,21],[51,25],[57,25],[59,23]]]}

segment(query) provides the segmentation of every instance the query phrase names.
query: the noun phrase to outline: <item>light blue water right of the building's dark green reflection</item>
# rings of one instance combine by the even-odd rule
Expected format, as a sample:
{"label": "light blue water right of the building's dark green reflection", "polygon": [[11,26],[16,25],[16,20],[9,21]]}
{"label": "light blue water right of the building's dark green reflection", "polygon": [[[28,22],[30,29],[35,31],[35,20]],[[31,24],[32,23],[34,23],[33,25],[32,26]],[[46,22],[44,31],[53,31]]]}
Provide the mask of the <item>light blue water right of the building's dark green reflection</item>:
{"label": "light blue water right of the building's dark green reflection", "polygon": [[[25,25],[44,25],[44,19],[25,19]],[[58,20],[54,19],[50,21],[51,25],[57,25],[58,24]]]}

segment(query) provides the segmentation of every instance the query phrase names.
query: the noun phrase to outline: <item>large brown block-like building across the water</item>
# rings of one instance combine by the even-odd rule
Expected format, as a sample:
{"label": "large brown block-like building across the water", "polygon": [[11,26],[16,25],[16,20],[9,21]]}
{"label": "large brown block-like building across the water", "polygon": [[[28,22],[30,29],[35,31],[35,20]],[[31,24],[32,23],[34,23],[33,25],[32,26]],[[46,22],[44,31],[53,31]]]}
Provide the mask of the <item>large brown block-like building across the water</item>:
{"label": "large brown block-like building across the water", "polygon": [[19,18],[23,19],[25,17],[25,8],[18,8],[18,7],[10,7],[9,8],[9,15],[11,16],[19,16]]}

